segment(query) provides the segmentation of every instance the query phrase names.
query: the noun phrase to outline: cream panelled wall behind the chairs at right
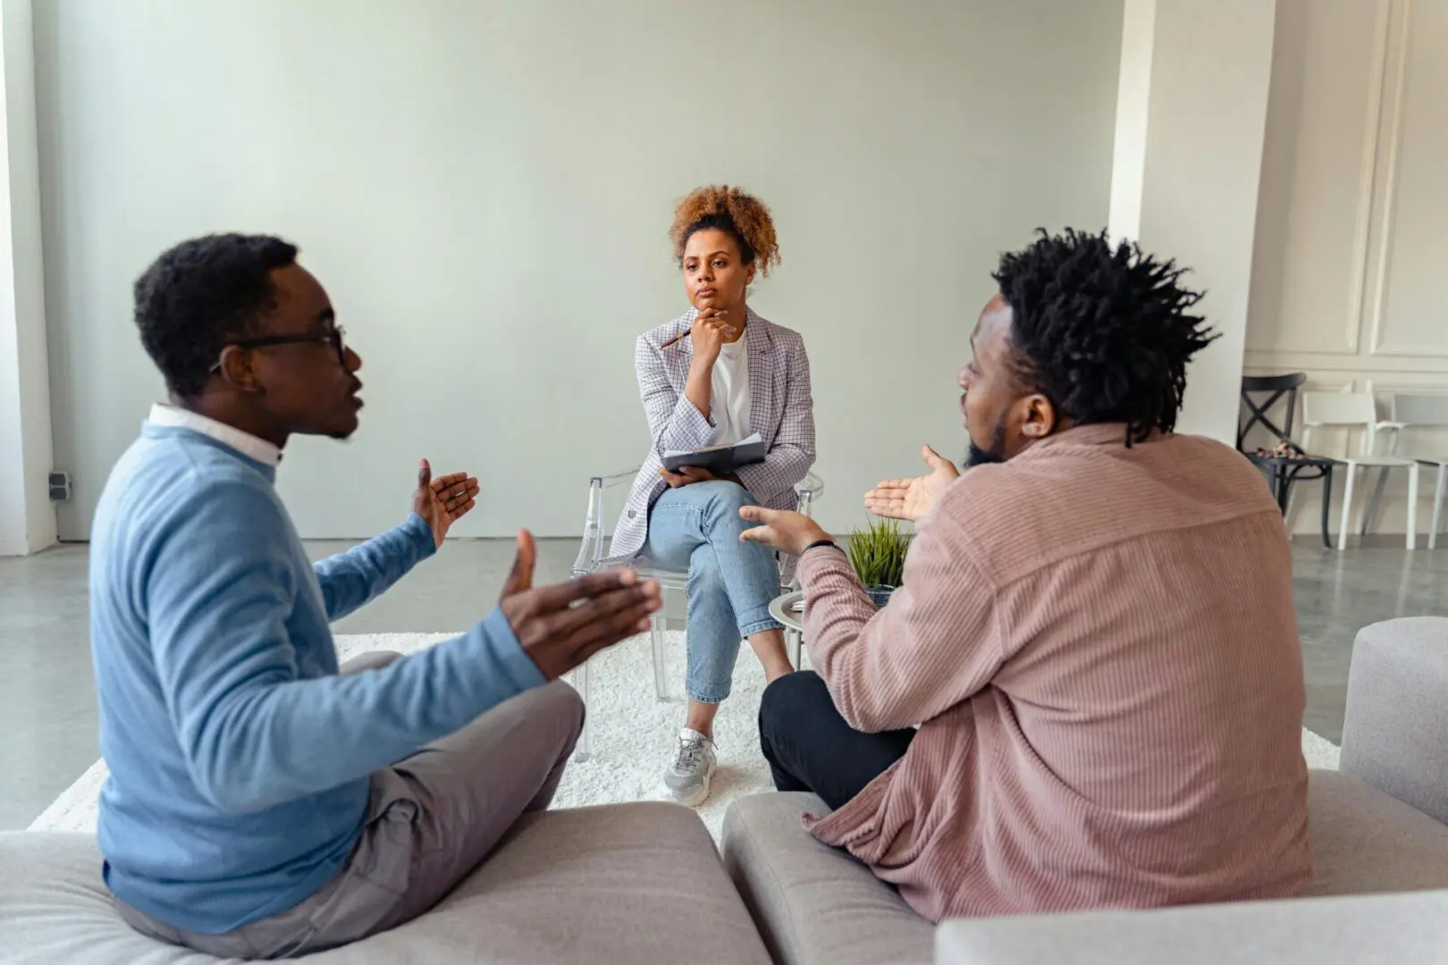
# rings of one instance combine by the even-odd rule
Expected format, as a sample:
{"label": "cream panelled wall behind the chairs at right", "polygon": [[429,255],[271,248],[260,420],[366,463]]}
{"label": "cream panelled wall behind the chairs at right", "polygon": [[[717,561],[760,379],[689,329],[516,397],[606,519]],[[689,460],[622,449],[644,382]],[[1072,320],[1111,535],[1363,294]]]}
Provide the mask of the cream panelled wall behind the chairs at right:
{"label": "cream panelled wall behind the chairs at right", "polygon": [[[1448,0],[1277,9],[1247,370],[1376,392],[1386,418],[1394,391],[1448,392]],[[1448,453],[1444,433],[1403,441]],[[1360,440],[1321,443],[1344,456]],[[1299,492],[1293,527],[1315,532],[1321,489]],[[1378,530],[1403,532],[1406,482],[1389,495]]]}

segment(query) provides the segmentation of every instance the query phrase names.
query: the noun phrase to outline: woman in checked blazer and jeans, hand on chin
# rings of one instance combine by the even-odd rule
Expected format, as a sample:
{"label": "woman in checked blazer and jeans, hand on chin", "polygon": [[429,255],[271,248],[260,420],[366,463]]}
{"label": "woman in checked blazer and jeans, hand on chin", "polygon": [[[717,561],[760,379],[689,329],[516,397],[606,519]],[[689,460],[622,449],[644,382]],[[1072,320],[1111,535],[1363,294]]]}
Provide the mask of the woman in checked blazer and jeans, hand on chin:
{"label": "woman in checked blazer and jeans, hand on chin", "polygon": [[[714,715],[747,638],[773,681],[791,671],[775,556],[744,543],[740,506],[795,508],[795,483],[815,459],[809,359],[796,333],[746,304],[756,272],[779,262],[769,210],[738,188],[699,188],[675,211],[673,253],[691,308],[639,337],[634,367],[653,447],[614,530],[615,558],[689,573],[689,709],[665,771],[675,800],[701,804],[715,768]],[[663,469],[662,454],[736,443],[757,433],[762,463],[715,479]]]}

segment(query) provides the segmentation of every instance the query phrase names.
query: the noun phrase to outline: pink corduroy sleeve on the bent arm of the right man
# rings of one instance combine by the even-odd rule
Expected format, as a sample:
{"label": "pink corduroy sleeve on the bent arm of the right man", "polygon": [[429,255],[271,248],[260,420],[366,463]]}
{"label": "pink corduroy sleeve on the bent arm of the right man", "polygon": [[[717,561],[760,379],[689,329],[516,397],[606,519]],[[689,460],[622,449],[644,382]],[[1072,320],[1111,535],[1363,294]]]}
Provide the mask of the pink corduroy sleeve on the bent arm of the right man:
{"label": "pink corduroy sleeve on the bent arm of the right man", "polygon": [[982,690],[1003,663],[995,592],[941,509],[921,521],[905,557],[904,584],[880,611],[838,550],[799,560],[809,661],[834,706],[857,731],[922,723]]}

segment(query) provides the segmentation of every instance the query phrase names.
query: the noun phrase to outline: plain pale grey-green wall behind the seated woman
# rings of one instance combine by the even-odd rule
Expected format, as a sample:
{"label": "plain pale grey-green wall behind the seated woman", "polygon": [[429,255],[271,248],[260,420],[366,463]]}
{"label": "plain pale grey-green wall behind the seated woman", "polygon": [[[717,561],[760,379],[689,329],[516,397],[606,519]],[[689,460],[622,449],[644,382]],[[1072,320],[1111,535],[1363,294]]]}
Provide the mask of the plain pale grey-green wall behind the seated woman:
{"label": "plain pale grey-green wall behind the seated woman", "polygon": [[395,522],[418,456],[481,476],[462,535],[579,532],[647,447],[633,339],[686,307],[705,182],[773,207],[753,305],[805,336],[841,528],[963,451],[998,253],[1105,224],[1121,1],[56,0],[36,43],[65,537],[159,394],[130,284],[219,229],[297,240],[366,363],[355,441],[288,453],[304,535]]}

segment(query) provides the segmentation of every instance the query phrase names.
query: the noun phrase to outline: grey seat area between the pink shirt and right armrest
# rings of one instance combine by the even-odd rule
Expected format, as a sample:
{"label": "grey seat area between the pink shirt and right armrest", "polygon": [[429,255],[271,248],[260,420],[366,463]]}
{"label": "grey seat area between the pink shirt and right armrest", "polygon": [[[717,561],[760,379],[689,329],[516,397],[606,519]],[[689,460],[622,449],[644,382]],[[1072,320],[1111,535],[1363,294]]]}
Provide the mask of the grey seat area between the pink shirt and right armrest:
{"label": "grey seat area between the pink shirt and right armrest", "polygon": [[1312,894],[1448,888],[1448,828],[1348,774],[1308,777]]}

